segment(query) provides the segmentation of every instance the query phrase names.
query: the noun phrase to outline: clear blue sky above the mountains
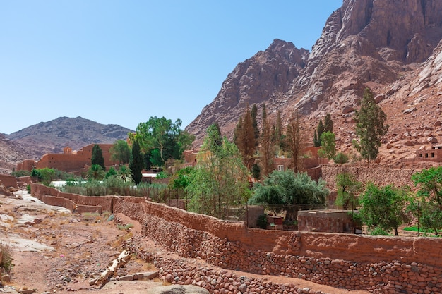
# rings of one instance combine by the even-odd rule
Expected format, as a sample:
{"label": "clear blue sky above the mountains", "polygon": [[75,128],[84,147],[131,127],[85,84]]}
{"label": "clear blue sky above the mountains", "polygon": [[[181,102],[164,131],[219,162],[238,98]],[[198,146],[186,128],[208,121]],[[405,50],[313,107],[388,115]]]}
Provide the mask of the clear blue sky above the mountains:
{"label": "clear blue sky above the mountains", "polygon": [[342,0],[0,0],[0,133],[60,116],[182,128],[273,39],[311,50]]}

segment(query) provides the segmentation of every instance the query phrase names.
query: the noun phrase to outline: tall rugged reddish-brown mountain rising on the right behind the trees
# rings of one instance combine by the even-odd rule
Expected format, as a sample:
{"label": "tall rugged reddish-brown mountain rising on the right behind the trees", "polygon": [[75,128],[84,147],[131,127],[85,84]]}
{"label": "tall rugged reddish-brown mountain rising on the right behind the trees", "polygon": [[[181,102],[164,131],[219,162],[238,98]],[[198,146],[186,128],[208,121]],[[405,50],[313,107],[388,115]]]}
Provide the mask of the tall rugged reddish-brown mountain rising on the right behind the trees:
{"label": "tall rugged reddish-brown mountain rising on the right behind the trees", "polygon": [[[265,104],[270,118],[281,111],[287,120],[299,111],[311,137],[319,118],[332,114],[338,148],[347,150],[354,137],[353,111],[370,87],[388,114],[390,146],[407,140],[405,133],[415,134],[413,144],[407,142],[414,149],[428,144],[427,136],[440,141],[442,131],[434,125],[441,121],[441,39],[442,1],[344,0],[311,51],[276,39],[234,68],[186,130],[199,145],[205,129],[217,121],[231,137],[247,105]],[[416,101],[422,114],[417,108],[410,121],[403,111]],[[433,130],[421,131],[426,125]],[[411,156],[412,148],[400,157]],[[398,159],[392,151],[383,158]]]}

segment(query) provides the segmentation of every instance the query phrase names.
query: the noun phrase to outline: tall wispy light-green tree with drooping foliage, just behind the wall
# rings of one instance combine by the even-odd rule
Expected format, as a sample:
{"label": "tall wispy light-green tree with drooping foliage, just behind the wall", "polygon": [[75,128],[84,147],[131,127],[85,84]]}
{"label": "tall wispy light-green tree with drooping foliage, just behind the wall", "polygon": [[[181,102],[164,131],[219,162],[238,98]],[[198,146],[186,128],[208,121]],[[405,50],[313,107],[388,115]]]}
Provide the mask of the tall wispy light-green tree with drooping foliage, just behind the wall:
{"label": "tall wispy light-green tree with drooping foliage, just behind the wall", "polygon": [[248,172],[239,149],[220,136],[215,124],[207,130],[186,192],[191,211],[216,217],[226,216],[228,207],[249,198]]}

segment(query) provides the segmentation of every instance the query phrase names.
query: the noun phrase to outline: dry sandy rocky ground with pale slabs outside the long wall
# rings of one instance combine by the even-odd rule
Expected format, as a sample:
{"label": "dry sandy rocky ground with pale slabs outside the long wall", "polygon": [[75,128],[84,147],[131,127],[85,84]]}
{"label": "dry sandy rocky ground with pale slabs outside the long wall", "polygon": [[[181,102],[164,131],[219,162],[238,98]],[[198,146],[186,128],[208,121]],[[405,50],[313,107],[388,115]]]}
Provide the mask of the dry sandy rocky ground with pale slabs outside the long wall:
{"label": "dry sandy rocky ground with pale slabs outside the long wall", "polygon": [[[90,286],[89,281],[97,278],[118,257],[128,239],[142,243],[143,250],[156,257],[183,260],[141,236],[140,224],[124,215],[71,214],[64,208],[41,203],[26,191],[6,194],[0,192],[0,242],[11,249],[14,267],[3,277],[0,293],[146,293],[147,288],[169,284],[161,276],[161,269],[160,276],[155,278],[158,269],[133,252],[129,262],[114,275],[114,281],[102,288]],[[196,259],[185,259],[185,262],[207,267],[211,272],[220,271],[225,278],[234,275],[251,278],[255,286],[256,283],[284,283],[292,288],[304,288],[303,293],[367,293],[295,278],[228,272]],[[148,274],[150,280],[136,280]]]}

